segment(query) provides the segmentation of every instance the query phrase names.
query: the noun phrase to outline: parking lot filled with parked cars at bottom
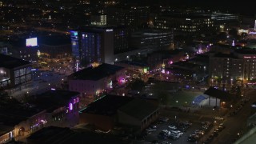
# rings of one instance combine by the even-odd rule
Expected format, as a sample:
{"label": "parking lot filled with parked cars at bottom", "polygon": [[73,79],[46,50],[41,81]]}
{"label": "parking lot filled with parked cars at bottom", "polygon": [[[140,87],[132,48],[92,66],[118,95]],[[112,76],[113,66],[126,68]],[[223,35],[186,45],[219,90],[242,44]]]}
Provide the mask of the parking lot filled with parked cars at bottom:
{"label": "parking lot filled with parked cars at bottom", "polygon": [[202,122],[187,120],[175,122],[174,119],[165,122],[160,120],[151,125],[151,128],[145,130],[147,135],[144,140],[151,143],[202,143],[204,141],[202,135],[211,130],[213,123],[209,122],[205,130],[202,129],[203,126],[206,128],[206,125],[202,125]]}

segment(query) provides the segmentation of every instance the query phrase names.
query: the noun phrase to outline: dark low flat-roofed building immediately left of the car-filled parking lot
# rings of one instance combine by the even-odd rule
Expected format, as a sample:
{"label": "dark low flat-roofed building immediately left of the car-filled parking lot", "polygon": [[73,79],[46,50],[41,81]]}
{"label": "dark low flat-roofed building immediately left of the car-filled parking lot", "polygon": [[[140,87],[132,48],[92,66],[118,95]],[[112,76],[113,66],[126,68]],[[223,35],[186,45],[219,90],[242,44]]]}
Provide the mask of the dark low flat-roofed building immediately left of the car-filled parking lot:
{"label": "dark low flat-roofed building immediately left of the car-filled parking lot", "polygon": [[158,106],[144,99],[106,95],[80,111],[80,123],[93,124],[102,130],[129,126],[134,133],[140,133],[158,115]]}

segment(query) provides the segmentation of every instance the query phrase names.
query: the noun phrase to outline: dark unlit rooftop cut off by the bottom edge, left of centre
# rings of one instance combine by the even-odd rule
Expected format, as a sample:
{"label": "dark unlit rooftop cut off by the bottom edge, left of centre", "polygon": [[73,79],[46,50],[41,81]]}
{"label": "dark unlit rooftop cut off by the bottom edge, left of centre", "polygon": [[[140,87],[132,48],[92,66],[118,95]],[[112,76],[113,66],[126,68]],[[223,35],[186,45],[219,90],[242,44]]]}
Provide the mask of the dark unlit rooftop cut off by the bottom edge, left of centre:
{"label": "dark unlit rooftop cut off by the bottom edge, left of centre", "polygon": [[89,131],[74,131],[69,128],[55,126],[44,127],[27,138],[28,143],[127,143],[111,134],[97,134]]}

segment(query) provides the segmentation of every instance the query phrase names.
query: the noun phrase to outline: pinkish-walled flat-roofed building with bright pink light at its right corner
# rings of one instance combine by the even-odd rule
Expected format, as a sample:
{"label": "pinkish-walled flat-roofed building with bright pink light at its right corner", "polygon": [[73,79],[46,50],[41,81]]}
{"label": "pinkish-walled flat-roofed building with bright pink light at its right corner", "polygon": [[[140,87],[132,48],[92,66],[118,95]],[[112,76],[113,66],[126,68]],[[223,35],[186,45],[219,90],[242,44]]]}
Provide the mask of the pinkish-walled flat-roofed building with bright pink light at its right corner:
{"label": "pinkish-walled flat-roofed building with bright pink light at its right corner", "polygon": [[113,90],[114,86],[124,84],[125,78],[122,66],[103,63],[71,74],[68,77],[69,90],[79,92],[82,97],[81,105],[86,106],[105,92]]}

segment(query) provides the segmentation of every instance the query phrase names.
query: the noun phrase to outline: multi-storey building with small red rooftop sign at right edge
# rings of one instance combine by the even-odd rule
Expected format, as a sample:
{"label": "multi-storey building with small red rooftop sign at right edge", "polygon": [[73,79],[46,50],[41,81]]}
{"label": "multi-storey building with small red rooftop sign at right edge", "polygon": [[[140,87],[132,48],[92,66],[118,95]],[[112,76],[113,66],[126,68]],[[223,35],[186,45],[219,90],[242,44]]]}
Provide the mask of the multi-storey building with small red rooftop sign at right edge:
{"label": "multi-storey building with small red rooftop sign at right edge", "polygon": [[210,83],[232,84],[241,80],[244,83],[256,78],[256,51],[253,49],[234,50],[230,54],[213,54],[210,56]]}

